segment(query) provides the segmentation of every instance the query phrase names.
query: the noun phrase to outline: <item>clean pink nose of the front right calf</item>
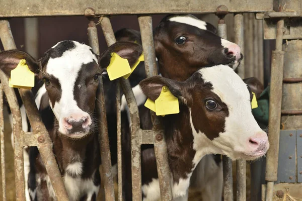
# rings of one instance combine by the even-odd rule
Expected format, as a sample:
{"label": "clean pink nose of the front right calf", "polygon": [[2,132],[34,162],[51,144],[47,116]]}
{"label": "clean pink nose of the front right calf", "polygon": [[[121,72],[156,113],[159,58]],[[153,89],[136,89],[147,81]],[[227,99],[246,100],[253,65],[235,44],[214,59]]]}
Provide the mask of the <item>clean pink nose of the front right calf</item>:
{"label": "clean pink nose of the front right calf", "polygon": [[267,134],[265,132],[257,133],[255,136],[250,137],[248,144],[254,152],[266,151],[269,146]]}

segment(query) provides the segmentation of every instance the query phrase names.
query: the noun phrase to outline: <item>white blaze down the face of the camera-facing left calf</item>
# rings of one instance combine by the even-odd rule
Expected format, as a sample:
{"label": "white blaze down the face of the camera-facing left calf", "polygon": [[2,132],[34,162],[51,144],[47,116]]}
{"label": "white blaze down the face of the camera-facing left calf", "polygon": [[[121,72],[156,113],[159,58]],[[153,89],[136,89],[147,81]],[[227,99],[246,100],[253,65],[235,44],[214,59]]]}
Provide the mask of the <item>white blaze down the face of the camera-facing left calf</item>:
{"label": "white blaze down the face of the camera-facing left calf", "polygon": [[50,58],[46,65],[46,73],[57,78],[61,86],[61,98],[55,102],[52,108],[59,121],[59,132],[61,133],[64,133],[61,126],[64,118],[72,114],[79,117],[89,116],[78,107],[74,99],[73,89],[82,66],[93,61],[98,63],[89,46],[75,41],[73,43],[74,48],[65,51],[61,57]]}

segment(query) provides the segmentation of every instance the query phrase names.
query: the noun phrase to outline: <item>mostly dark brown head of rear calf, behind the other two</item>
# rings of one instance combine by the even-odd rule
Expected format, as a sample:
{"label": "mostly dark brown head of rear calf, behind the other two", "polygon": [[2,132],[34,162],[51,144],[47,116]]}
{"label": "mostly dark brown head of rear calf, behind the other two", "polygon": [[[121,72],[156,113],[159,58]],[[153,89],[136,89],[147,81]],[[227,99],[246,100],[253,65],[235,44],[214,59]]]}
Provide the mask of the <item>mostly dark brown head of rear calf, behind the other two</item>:
{"label": "mostly dark brown head of rear calf, behind the other two", "polygon": [[207,65],[225,64],[236,69],[243,58],[240,47],[215,33],[211,24],[192,15],[164,18],[154,35],[162,75],[184,81]]}

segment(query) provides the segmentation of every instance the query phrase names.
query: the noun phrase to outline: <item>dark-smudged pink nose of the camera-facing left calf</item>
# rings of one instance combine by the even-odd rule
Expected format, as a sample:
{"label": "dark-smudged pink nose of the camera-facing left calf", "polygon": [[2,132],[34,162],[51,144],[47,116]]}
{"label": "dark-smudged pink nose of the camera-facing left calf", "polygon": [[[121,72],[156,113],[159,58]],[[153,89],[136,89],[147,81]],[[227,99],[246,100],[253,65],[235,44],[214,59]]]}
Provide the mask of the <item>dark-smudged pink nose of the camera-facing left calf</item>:
{"label": "dark-smudged pink nose of the camera-facing left calf", "polygon": [[68,117],[63,119],[63,127],[70,133],[83,132],[91,125],[92,121],[89,116],[80,118]]}

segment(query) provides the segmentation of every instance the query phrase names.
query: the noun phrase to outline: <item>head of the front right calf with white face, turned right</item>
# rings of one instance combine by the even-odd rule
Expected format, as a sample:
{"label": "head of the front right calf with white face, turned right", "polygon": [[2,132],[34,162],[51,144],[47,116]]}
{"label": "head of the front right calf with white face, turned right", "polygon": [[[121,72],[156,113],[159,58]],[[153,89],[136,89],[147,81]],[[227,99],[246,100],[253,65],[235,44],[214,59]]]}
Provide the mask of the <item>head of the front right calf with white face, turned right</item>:
{"label": "head of the front right calf with white face, turned right", "polygon": [[184,125],[191,125],[192,145],[197,153],[253,160],[268,150],[267,135],[252,115],[251,90],[231,68],[202,68],[184,82],[161,76],[140,82],[143,93],[152,100],[159,97],[163,86],[168,86],[180,104],[188,107]]}

